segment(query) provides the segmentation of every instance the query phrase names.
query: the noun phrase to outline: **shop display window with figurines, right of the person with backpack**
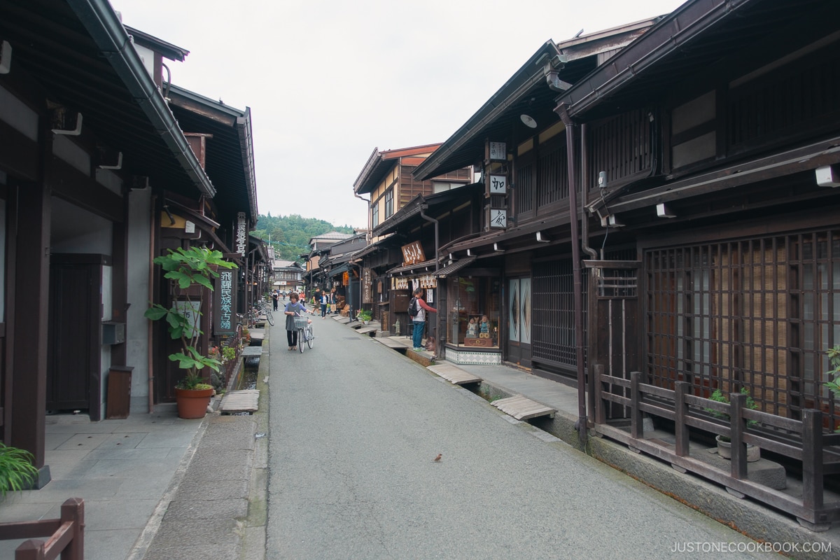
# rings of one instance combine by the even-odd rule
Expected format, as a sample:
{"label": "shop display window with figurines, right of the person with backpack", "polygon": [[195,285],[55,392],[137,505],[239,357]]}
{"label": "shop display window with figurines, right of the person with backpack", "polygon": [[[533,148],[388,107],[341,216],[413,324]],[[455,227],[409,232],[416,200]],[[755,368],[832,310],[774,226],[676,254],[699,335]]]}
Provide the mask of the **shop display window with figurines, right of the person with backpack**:
{"label": "shop display window with figurines, right of the person with backpack", "polygon": [[499,280],[463,276],[449,280],[449,343],[499,348]]}

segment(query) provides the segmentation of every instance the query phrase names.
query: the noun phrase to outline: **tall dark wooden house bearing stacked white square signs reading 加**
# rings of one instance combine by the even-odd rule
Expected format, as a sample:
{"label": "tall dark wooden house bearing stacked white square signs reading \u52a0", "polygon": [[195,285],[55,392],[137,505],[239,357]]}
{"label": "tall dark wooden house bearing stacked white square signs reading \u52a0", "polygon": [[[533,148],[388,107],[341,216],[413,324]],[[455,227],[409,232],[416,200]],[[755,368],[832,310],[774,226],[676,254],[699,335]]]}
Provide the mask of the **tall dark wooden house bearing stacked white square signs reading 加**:
{"label": "tall dark wooden house bearing stacked white square signs reading \u52a0", "polygon": [[[569,188],[564,124],[554,113],[554,98],[654,23],[645,20],[559,44],[547,41],[414,170],[421,180],[465,165],[482,171],[486,196],[480,234],[455,239],[441,255],[475,259],[470,268],[496,271],[475,286],[468,270],[449,278],[453,290],[464,284],[483,294],[482,302],[449,312],[463,315],[467,326],[471,317],[487,315],[494,332],[495,348],[473,348],[470,353],[491,352],[551,379],[575,381],[575,333],[582,331],[574,319],[570,208],[577,205]],[[453,302],[465,299],[454,291],[449,294]],[[459,327],[459,338],[447,339],[449,357],[449,349],[465,351],[465,328]]]}

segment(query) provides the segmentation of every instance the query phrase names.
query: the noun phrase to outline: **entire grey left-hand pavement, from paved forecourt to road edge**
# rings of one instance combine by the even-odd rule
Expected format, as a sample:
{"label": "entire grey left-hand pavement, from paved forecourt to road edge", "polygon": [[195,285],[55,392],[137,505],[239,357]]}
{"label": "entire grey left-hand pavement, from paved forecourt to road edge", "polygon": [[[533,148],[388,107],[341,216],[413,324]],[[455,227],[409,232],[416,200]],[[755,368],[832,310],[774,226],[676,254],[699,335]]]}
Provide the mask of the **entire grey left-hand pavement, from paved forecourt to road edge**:
{"label": "entire grey left-hand pavement, from paved forecourt to road edge", "polygon": [[[50,483],[8,494],[0,522],[55,519],[79,497],[86,560],[264,557],[268,355],[256,375],[265,414],[182,420],[162,405],[126,420],[47,416]],[[0,541],[0,557],[22,542]]]}

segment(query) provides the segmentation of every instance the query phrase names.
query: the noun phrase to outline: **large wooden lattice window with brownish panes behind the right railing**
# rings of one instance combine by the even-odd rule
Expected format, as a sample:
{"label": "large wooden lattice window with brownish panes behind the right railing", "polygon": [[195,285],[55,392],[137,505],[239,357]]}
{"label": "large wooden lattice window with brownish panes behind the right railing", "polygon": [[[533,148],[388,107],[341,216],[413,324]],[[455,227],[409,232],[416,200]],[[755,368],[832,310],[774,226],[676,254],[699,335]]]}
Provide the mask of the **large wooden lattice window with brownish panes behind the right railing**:
{"label": "large wooden lattice window with brownish panes behind the right railing", "polygon": [[750,238],[645,252],[648,374],[696,394],[746,387],[759,407],[836,421],[822,386],[840,343],[840,232]]}

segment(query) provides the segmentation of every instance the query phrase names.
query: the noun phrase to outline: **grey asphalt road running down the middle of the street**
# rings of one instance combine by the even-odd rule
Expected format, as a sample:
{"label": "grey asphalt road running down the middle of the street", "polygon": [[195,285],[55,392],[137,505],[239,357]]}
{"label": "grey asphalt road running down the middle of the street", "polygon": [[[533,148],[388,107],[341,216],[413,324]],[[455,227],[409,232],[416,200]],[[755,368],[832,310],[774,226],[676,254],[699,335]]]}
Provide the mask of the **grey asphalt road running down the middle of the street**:
{"label": "grey asphalt road running down the middle of the street", "polygon": [[[267,558],[779,558],[737,552],[754,542],[312,321],[305,353],[282,327],[271,337]],[[736,552],[683,552],[717,543]]]}

